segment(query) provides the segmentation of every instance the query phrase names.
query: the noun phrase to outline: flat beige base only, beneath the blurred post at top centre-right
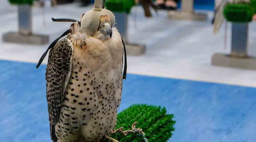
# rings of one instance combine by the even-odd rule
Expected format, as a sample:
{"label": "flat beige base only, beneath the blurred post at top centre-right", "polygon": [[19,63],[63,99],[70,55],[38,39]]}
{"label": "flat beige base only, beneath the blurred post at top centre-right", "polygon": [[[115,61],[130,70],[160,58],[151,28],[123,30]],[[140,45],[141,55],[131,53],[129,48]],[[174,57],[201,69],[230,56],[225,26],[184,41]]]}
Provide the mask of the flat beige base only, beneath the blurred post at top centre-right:
{"label": "flat beige base only, beneath the blurred post at top centre-right", "polygon": [[205,21],[207,20],[207,14],[191,11],[169,11],[168,18],[173,20]]}

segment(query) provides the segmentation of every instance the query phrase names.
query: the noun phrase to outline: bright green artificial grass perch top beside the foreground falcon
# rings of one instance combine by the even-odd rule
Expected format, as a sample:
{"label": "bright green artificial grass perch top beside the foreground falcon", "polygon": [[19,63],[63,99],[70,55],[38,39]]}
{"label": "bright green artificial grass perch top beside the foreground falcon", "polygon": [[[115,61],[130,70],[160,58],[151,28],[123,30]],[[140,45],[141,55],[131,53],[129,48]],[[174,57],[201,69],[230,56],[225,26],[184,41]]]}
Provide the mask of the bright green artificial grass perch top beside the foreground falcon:
{"label": "bright green artificial grass perch top beside the foreground falcon", "polygon": [[[172,114],[166,114],[165,108],[146,104],[132,105],[118,114],[116,129],[124,127],[124,131],[131,130],[132,124],[138,122],[136,128],[142,129],[148,142],[166,142],[175,130],[173,117]],[[119,142],[145,142],[137,133],[130,133],[127,136],[116,133],[110,137]]]}

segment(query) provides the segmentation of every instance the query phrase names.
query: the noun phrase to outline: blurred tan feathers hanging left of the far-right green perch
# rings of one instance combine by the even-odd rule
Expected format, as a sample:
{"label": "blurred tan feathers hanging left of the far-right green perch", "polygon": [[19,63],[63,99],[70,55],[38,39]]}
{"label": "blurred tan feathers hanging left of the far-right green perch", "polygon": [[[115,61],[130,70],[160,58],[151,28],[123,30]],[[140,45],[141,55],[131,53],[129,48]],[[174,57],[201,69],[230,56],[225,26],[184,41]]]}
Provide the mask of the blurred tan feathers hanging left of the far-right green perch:
{"label": "blurred tan feathers hanging left of the far-right green perch", "polygon": [[214,29],[213,29],[213,33],[216,34],[218,33],[218,31],[220,30],[220,27],[223,24],[224,21],[224,15],[223,15],[223,10],[224,7],[228,4],[227,0],[222,0],[220,3],[220,6],[216,9],[216,12],[214,14]]}

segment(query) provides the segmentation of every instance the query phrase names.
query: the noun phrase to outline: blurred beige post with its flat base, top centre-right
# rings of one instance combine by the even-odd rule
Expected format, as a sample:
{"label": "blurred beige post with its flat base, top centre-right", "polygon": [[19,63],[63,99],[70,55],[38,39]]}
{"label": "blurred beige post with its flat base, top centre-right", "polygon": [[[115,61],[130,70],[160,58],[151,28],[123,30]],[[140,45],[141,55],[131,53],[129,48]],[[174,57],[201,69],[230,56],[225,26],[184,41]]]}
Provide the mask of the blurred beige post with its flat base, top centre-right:
{"label": "blurred beige post with its flat base, top centre-right", "polygon": [[207,15],[194,12],[194,0],[182,0],[180,11],[168,11],[169,19],[205,21]]}

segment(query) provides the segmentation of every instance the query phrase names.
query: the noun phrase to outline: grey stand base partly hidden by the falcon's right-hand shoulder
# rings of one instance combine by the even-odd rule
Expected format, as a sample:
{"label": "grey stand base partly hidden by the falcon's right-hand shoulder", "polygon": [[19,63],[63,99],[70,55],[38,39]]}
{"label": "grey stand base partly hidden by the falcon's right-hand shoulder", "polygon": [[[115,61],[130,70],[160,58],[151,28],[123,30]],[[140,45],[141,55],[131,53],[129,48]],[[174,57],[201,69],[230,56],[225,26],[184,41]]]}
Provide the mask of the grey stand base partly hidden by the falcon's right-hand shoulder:
{"label": "grey stand base partly hidden by the falcon's right-hand shoulder", "polygon": [[127,55],[143,55],[146,52],[145,45],[125,43]]}

